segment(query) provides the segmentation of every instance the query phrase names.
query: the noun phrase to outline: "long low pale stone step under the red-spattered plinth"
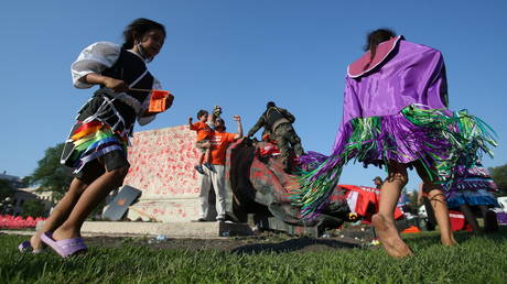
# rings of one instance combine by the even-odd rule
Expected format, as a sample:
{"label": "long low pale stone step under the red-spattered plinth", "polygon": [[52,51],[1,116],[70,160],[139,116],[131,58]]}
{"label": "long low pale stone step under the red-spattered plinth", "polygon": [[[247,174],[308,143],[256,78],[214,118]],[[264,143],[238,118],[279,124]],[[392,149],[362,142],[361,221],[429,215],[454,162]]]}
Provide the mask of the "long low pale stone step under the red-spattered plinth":
{"label": "long low pale stone step under the red-spattered plinth", "polygon": [[213,238],[229,236],[250,236],[252,230],[247,223],[229,222],[112,222],[86,221],[83,233],[90,234],[132,234],[159,236],[168,238]]}

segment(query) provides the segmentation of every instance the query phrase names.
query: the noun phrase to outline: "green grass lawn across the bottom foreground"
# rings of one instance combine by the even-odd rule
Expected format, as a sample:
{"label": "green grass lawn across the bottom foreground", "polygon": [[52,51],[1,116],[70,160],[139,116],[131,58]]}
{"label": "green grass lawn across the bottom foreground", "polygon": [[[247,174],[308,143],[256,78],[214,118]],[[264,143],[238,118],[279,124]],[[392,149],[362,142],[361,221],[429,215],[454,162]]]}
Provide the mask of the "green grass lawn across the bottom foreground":
{"label": "green grass lawn across the bottom foreground", "polygon": [[435,233],[407,237],[413,256],[395,260],[380,249],[324,252],[154,250],[126,241],[120,248],[91,247],[63,260],[52,252],[21,254],[26,239],[0,236],[1,283],[506,283],[507,230],[457,234],[444,248]]}

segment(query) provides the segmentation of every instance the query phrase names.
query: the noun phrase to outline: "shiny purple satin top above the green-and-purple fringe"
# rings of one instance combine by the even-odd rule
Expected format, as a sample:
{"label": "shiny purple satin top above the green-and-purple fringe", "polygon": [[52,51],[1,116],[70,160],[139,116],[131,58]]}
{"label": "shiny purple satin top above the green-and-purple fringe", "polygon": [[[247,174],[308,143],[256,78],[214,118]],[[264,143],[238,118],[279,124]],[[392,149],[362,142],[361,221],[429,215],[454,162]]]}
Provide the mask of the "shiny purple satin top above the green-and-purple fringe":
{"label": "shiny purple satin top above the green-and-purple fringe", "polygon": [[[430,109],[446,108],[447,90],[442,54],[431,47],[399,41],[379,67],[358,78],[347,76],[343,120],[333,152],[341,152],[352,133],[354,118],[395,116],[419,103]],[[449,111],[447,114],[451,114]]]}

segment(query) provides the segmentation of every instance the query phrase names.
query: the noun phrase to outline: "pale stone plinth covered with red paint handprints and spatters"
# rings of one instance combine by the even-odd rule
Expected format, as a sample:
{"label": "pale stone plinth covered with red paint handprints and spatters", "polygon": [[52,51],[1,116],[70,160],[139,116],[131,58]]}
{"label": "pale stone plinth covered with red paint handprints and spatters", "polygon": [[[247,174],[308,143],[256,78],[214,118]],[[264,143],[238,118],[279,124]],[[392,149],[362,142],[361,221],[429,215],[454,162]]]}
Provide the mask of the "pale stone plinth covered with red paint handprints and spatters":
{"label": "pale stone plinth covered with red paint handprints and spatters", "polygon": [[198,218],[195,138],[187,125],[133,134],[125,184],[142,190],[142,195],[130,207],[129,219],[187,222]]}

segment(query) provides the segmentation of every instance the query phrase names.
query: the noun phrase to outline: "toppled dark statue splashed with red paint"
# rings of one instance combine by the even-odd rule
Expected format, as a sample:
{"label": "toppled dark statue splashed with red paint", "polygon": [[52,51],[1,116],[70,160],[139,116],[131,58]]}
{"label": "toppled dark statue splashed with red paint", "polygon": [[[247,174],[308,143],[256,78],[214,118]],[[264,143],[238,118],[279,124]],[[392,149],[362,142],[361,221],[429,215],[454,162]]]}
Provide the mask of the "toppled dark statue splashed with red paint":
{"label": "toppled dark statue splashed with red paint", "polygon": [[[274,217],[287,225],[316,227],[322,232],[344,222],[368,221],[378,210],[378,189],[337,185],[317,218],[302,219],[301,208],[291,197],[291,190],[299,188],[299,179],[283,171],[279,156],[276,142],[270,139],[242,139],[229,146],[225,176],[227,215],[231,220],[246,222],[248,215],[258,220]],[[396,218],[400,217],[398,212]]]}

